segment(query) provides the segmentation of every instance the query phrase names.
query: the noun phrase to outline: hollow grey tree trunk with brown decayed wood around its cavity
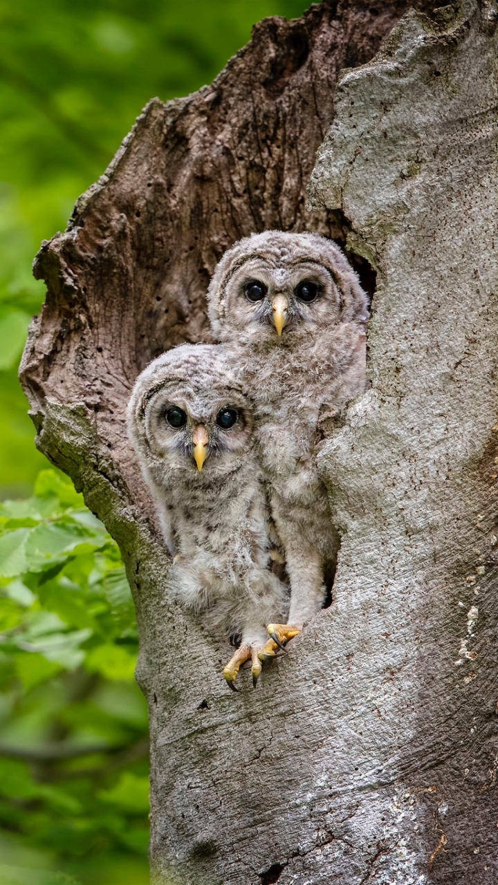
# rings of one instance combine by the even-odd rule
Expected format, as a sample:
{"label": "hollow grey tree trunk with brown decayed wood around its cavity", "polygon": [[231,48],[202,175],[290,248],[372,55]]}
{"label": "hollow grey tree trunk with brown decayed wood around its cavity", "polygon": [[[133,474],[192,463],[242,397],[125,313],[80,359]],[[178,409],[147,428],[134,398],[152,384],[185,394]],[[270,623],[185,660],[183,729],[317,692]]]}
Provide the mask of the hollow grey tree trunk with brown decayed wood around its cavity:
{"label": "hollow grey tree trunk with brown decayed wood around its cavity", "polygon": [[[211,87],[147,106],[36,260],[21,379],[127,564],[157,883],[497,881],[498,13],[409,12],[370,60],[404,8],[261,22]],[[331,607],[233,695],[229,649],[164,596],[125,406],[151,358],[208,340],[216,260],[268,227],[347,236],[377,272],[371,386],[320,453]]]}

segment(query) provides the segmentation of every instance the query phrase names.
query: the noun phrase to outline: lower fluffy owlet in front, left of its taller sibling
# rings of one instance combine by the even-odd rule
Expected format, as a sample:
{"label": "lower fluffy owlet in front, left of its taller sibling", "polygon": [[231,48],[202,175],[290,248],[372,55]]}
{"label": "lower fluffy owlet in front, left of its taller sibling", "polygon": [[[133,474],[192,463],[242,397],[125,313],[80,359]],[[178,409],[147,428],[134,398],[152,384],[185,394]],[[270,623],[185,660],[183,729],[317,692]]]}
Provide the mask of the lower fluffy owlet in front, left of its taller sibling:
{"label": "lower fluffy owlet in front, left of its taller sibling", "polygon": [[253,409],[230,354],[183,344],[155,359],[136,380],[128,435],[174,557],[167,591],[209,630],[241,635],[223,674],[235,689],[250,660],[255,685],[276,650],[266,627],[285,617],[289,594],[270,568],[278,551]]}

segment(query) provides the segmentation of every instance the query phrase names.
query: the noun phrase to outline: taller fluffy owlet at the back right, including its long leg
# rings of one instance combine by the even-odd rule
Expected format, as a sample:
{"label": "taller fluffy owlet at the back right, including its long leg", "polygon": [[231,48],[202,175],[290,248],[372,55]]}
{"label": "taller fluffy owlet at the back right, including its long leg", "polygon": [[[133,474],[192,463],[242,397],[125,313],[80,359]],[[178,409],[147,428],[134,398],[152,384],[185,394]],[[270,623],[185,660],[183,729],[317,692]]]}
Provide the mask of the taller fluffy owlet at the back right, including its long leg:
{"label": "taller fluffy owlet at the back right, including its long leg", "polygon": [[285,643],[323,607],[338,553],[316,466],[323,431],[366,383],[367,296],[335,243],[267,231],[225,253],[208,289],[217,341],[240,366],[291,583]]}

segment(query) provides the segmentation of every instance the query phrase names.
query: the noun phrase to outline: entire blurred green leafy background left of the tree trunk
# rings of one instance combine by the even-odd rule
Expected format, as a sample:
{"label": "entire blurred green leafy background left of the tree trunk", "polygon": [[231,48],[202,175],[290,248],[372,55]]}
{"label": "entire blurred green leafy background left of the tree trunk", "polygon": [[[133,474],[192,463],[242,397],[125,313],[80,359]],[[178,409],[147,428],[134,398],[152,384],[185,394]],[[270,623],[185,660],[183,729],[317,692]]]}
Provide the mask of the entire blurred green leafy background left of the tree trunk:
{"label": "entire blurred green leafy background left of the tree trunk", "polygon": [[133,605],[115,544],[35,450],[31,262],[149,98],[212,81],[255,21],[307,5],[0,0],[0,885],[148,881]]}

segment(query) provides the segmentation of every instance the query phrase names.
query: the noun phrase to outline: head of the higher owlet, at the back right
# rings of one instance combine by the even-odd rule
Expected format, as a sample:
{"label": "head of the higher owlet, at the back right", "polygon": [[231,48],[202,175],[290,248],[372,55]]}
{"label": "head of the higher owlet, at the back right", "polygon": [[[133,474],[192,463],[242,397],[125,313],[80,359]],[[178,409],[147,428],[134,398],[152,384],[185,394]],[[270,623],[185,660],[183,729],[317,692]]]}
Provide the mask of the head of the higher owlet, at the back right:
{"label": "head of the higher owlet, at the back right", "polygon": [[207,297],[219,341],[279,344],[314,327],[368,319],[356,273],[317,234],[268,230],[239,240],[216,266]]}

